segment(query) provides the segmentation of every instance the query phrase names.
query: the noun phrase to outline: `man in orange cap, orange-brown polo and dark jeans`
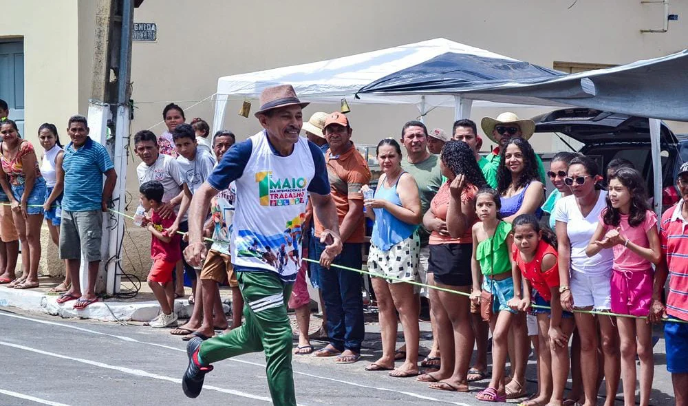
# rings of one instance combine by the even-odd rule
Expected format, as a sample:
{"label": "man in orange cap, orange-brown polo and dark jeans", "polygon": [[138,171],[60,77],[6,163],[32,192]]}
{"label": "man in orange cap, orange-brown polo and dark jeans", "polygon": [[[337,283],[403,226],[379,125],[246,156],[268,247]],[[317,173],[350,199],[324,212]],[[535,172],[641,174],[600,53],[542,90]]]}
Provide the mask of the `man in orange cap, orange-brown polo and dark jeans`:
{"label": "man in orange cap, orange-brown polo and dark jeans", "polygon": [[[342,253],[334,259],[334,264],[359,269],[363,262],[361,248],[365,241],[361,186],[370,182],[370,171],[351,141],[352,128],[344,114],[338,111],[330,114],[323,131],[330,144],[325,160],[343,242]],[[319,213],[315,213],[313,218],[315,236],[321,237],[325,227]],[[315,245],[315,253],[319,255],[325,245],[318,241]],[[361,358],[361,343],[365,334],[361,295],[363,279],[360,274],[341,268],[320,268],[318,272],[330,343],[314,352],[314,355],[336,356],[336,363],[354,363]]]}

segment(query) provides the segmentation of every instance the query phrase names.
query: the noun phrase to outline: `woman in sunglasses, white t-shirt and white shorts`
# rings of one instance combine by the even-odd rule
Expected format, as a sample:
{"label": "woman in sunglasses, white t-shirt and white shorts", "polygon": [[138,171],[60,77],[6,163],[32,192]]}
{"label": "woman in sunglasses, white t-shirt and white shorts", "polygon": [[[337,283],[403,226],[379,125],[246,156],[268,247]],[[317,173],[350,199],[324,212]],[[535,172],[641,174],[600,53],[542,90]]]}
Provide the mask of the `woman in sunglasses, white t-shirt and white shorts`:
{"label": "woman in sunglasses, white t-shirt and white shorts", "polygon": [[[571,160],[568,177],[572,195],[561,197],[555,206],[557,240],[559,241],[559,280],[561,306],[564,310],[610,310],[611,277],[614,256],[611,249],[601,250],[588,257],[585,248],[597,228],[599,215],[606,207],[607,192],[596,188],[602,180],[599,167],[589,157]],[[593,316],[575,312],[576,326],[581,336],[581,370],[585,406],[595,405],[598,375],[598,331],[604,355],[604,373],[607,385],[605,405],[614,404],[619,387],[619,339],[614,320],[609,316]],[[570,332],[564,332],[567,339]],[[561,352],[568,351],[568,343]]]}

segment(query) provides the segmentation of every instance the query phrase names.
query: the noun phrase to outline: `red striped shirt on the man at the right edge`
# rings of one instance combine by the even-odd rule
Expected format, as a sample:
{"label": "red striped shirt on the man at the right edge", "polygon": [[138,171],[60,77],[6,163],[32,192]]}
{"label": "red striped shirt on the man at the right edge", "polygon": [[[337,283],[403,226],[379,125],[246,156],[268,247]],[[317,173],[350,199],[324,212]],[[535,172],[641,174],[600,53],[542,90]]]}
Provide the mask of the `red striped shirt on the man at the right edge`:
{"label": "red striped shirt on the man at the right edge", "polygon": [[681,214],[683,204],[681,200],[664,212],[659,236],[670,275],[667,314],[688,320],[688,221]]}

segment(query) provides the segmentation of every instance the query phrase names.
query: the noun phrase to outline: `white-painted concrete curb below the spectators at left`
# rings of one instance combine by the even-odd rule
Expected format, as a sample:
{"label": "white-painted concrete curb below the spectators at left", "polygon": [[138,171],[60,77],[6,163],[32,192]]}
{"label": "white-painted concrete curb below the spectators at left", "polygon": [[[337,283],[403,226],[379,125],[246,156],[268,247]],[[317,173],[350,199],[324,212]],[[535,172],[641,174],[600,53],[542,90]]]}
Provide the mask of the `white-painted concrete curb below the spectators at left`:
{"label": "white-painted concrete curb below the spectators at left", "polygon": [[[45,295],[43,292],[0,287],[0,307],[10,306],[63,319],[78,317],[100,321],[150,321],[160,312],[157,301],[98,301],[83,310],[75,310],[76,301],[59,304],[57,298],[57,295]],[[225,312],[230,312],[229,306],[223,304],[223,307]],[[180,299],[175,301],[174,310],[180,319],[188,319],[193,305],[186,299]]]}

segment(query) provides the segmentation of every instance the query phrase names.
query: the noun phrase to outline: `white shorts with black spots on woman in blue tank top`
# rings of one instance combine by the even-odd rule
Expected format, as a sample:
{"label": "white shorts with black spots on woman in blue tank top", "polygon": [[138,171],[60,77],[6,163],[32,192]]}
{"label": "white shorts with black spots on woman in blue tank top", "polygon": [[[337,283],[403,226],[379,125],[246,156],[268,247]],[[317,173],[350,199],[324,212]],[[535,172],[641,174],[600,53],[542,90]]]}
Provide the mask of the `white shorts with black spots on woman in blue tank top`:
{"label": "white shorts with black spots on woman in blue tank top", "polygon": [[370,244],[368,271],[388,279],[390,284],[406,281],[419,281],[418,262],[420,261],[420,239],[418,233],[394,244],[389,250]]}

